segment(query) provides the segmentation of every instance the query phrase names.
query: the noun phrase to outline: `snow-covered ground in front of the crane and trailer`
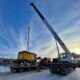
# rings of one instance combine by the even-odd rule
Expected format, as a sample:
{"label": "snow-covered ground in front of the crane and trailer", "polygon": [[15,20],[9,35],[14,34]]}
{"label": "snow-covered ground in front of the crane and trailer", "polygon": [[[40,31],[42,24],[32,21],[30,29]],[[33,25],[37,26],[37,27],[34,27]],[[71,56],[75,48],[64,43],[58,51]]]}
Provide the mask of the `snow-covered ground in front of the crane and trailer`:
{"label": "snow-covered ground in front of the crane and trailer", "polygon": [[49,70],[23,73],[11,73],[6,71],[0,72],[0,80],[80,80],[80,69],[76,69],[67,76],[51,74]]}

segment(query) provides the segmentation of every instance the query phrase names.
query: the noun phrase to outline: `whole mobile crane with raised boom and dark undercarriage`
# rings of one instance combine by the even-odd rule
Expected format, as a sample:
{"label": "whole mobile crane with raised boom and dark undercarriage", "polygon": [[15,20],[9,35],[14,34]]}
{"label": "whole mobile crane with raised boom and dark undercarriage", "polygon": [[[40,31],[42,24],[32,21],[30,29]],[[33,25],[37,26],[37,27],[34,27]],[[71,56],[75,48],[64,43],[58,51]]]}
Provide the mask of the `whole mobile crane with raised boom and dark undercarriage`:
{"label": "whole mobile crane with raised boom and dark undercarriage", "polygon": [[[49,29],[51,34],[57,42],[60,44],[62,49],[65,51],[62,54],[59,54],[58,58],[53,58],[53,61],[50,63],[50,72],[51,73],[60,73],[67,75],[70,73],[72,70],[74,70],[76,67],[80,67],[80,64],[78,61],[75,61],[75,53],[71,53],[69,49],[66,47],[65,43],[61,40],[61,38],[58,36],[58,34],[55,32],[55,30],[51,27],[51,25],[48,23],[46,18],[41,14],[41,12],[37,9],[37,7],[34,5],[34,3],[30,4],[36,13],[39,15],[43,23],[46,25],[46,27]],[[58,46],[57,46],[58,50]],[[59,52],[59,51],[58,51]]]}

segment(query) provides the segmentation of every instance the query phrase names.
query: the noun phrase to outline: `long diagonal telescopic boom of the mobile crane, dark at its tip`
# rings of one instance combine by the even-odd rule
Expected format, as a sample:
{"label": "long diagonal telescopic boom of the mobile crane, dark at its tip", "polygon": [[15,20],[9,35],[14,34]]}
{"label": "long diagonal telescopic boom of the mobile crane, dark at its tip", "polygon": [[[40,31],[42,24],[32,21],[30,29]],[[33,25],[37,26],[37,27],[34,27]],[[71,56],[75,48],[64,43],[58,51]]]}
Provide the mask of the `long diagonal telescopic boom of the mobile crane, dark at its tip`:
{"label": "long diagonal telescopic boom of the mobile crane, dark at its tip", "polygon": [[48,23],[48,21],[46,20],[46,18],[41,14],[41,12],[36,8],[36,6],[31,3],[30,4],[35,11],[37,12],[37,14],[39,15],[39,17],[42,19],[42,21],[44,22],[44,24],[46,25],[46,27],[49,29],[49,31],[52,33],[53,37],[58,41],[58,43],[60,44],[60,46],[63,48],[63,50],[66,53],[71,53],[69,51],[69,49],[66,47],[66,45],[64,44],[64,42],[60,39],[60,37],[58,36],[58,34],[54,31],[54,29],[51,27],[51,25]]}

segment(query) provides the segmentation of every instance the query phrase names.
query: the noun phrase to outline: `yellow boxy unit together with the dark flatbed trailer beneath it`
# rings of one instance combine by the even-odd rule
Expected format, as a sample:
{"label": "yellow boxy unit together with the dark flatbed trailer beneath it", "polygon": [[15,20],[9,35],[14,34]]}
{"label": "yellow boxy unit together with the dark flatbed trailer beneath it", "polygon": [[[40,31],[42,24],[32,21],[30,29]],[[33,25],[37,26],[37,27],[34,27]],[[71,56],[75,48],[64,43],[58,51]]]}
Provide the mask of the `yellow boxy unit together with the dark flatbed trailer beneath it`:
{"label": "yellow boxy unit together with the dark flatbed trailer beneath it", "polygon": [[10,67],[11,72],[28,71],[36,69],[37,55],[32,52],[21,51],[18,53],[18,59],[13,61],[13,65]]}

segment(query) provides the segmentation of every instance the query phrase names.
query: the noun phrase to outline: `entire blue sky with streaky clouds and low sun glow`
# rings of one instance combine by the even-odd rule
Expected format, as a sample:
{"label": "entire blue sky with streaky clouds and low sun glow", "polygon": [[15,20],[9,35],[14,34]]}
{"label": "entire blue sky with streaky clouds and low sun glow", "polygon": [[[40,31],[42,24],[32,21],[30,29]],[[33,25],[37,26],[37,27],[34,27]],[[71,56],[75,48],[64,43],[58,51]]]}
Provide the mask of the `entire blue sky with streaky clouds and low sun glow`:
{"label": "entire blue sky with streaky clouds and low sun glow", "polygon": [[[16,57],[27,49],[30,27],[30,51],[39,56],[56,57],[55,40],[30,3],[58,33],[71,52],[80,51],[80,0],[0,0],[0,56]],[[61,47],[59,46],[62,52]]]}

